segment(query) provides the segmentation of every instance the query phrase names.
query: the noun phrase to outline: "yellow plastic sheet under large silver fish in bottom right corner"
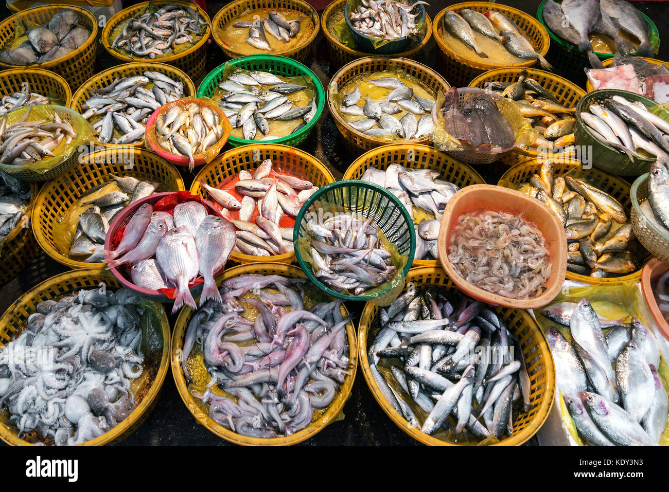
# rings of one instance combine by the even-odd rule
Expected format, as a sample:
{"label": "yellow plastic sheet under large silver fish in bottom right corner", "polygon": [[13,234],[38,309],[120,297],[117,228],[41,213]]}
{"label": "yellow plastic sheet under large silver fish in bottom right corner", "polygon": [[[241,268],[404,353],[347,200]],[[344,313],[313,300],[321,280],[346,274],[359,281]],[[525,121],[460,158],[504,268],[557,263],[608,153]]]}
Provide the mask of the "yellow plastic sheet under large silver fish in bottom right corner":
{"label": "yellow plastic sheet under large silver fish in bottom right corner", "polygon": [[[648,305],[641,293],[639,288],[638,279],[629,280],[624,282],[615,283],[613,285],[587,285],[585,287],[565,287],[561,293],[551,301],[549,305],[534,310],[534,316],[537,319],[537,324],[544,333],[551,326],[555,326],[561,334],[567,339],[568,342],[571,342],[571,332],[569,327],[562,326],[557,324],[553,320],[546,318],[541,314],[541,311],[550,305],[559,303],[559,302],[573,302],[577,303],[583,297],[587,297],[588,301],[592,305],[593,309],[599,316],[608,318],[609,320],[618,320],[622,318],[622,322],[629,322],[632,316],[639,318],[648,328],[652,330],[654,328],[653,318],[648,310]],[[606,333],[610,328],[604,328],[603,332]],[[657,330],[654,331],[656,336],[662,336]],[[662,347],[660,346],[660,350]],[[658,367],[658,374],[660,374],[660,379],[662,384],[664,384],[664,389],[669,390],[669,366],[664,358],[660,357],[660,367]],[[556,386],[558,386],[559,391],[559,381],[557,381]],[[574,441],[578,443],[579,446],[585,446],[586,443],[581,437],[576,429],[576,426],[569,416],[569,410],[563,398],[559,398],[560,411],[562,414],[562,419],[569,430],[569,434],[573,437]],[[662,437],[660,438],[660,445],[669,446],[669,427],[665,428]]]}

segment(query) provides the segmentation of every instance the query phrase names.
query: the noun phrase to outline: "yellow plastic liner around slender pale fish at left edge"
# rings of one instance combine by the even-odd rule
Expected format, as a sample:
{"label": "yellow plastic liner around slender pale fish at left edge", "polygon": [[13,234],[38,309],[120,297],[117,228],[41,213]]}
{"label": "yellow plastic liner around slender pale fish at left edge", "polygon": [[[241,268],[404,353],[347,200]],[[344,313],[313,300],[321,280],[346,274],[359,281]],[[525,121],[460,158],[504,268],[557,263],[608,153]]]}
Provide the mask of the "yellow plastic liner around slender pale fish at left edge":
{"label": "yellow plastic liner around slender pale fish at left edge", "polygon": [[53,157],[45,157],[42,160],[33,162],[31,164],[23,164],[21,166],[14,166],[11,164],[0,164],[0,169],[2,170],[17,170],[17,169],[27,169],[37,174],[44,174],[48,172],[55,166],[62,164],[62,162],[68,160],[74,154],[80,151],[80,147],[88,148],[88,143],[95,140],[95,130],[93,127],[88,124],[84,117],[81,116],[75,110],[66,108],[64,106],[55,106],[54,104],[42,104],[39,106],[28,106],[27,108],[19,108],[12,112],[7,113],[5,118],[7,118],[5,123],[5,128],[17,123],[26,112],[30,112],[25,121],[39,121],[46,120],[45,124],[48,122],[54,121],[54,113],[58,113],[58,116],[61,120],[68,122],[72,125],[72,130],[74,130],[74,137],[69,144],[65,143],[65,139],[62,140],[60,145],[56,147],[52,152],[54,153]]}

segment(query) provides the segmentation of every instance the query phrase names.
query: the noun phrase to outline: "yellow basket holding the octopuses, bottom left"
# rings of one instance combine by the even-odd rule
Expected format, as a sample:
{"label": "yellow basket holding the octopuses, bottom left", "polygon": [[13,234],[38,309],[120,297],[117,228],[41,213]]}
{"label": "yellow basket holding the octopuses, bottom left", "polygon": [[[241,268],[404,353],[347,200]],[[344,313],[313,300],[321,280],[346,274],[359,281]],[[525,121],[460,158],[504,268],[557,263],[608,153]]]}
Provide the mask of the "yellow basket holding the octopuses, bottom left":
{"label": "yellow basket holding the octopuses, bottom left", "polygon": [[[121,287],[108,271],[92,268],[60,273],[55,277],[43,281],[23,294],[3,314],[0,324],[2,326],[0,328],[0,343],[4,345],[16,335],[23,332],[28,316],[36,312],[38,303],[47,299],[60,299],[64,295],[80,289],[98,289],[101,283],[114,289]],[[119,443],[134,433],[147,420],[158,402],[158,396],[163,387],[169,367],[170,328],[163,305],[147,301],[147,308],[153,311],[153,316],[160,325],[152,326],[154,332],[151,334],[151,340],[156,344],[153,347],[154,350],[150,352],[153,364],[147,366],[147,362],[145,362],[145,370],[155,372],[153,381],[148,387],[145,386],[136,392],[138,398],[137,406],[125,420],[102,436],[96,437],[96,439],[92,439],[91,441],[86,441],[82,446],[104,446]],[[143,338],[146,339],[147,337]],[[145,361],[149,358],[146,357],[148,355],[145,354]],[[7,411],[3,410],[0,414],[0,439],[13,446],[30,446],[31,443],[29,441],[17,437],[17,431],[16,426],[9,421]],[[30,434],[34,435],[35,432],[32,431]]]}

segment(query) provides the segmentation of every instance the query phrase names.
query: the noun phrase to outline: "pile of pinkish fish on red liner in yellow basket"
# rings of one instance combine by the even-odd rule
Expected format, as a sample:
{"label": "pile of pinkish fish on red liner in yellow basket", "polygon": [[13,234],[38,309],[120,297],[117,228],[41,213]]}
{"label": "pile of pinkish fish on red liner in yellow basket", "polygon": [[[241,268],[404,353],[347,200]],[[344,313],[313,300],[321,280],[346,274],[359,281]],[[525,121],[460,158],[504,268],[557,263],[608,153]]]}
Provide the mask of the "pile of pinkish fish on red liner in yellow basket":
{"label": "pile of pinkish fish on red liner in yellow basket", "polygon": [[[300,207],[318,187],[310,181],[274,171],[270,159],[264,160],[253,173],[242,170],[237,177],[233,188],[244,195],[242,201],[223,189],[200,182],[209,197],[224,208],[223,217],[235,227],[234,251],[252,256],[293,251],[293,228],[280,227],[279,223],[284,215],[297,217]],[[231,215],[232,211],[239,212],[237,219]]]}

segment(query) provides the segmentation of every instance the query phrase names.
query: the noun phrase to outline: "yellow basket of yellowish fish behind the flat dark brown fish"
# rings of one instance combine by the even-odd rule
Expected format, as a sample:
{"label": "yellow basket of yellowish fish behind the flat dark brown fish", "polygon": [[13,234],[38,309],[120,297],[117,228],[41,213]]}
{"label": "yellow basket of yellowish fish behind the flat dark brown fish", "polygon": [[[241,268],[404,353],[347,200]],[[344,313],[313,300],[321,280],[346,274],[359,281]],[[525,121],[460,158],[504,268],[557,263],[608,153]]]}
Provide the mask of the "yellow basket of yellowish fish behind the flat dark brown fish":
{"label": "yellow basket of yellowish fish behind the flat dark brown fish", "polygon": [[[569,80],[537,68],[496,68],[481,74],[472,80],[469,85],[470,87],[484,89],[488,82],[516,82],[516,80],[520,78],[520,72],[523,70],[527,70],[529,78],[536,80],[541,87],[555,94],[555,98],[562,104],[562,106],[565,106],[565,108],[575,108],[579,99],[585,96],[585,91],[579,86],[569,82]],[[508,154],[504,154],[504,156],[500,158],[500,161],[508,166],[514,166],[520,164],[520,162],[537,158],[538,156],[539,152],[536,150],[514,148],[514,150]]]}

